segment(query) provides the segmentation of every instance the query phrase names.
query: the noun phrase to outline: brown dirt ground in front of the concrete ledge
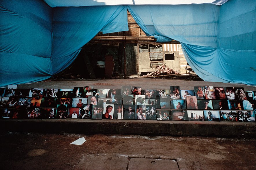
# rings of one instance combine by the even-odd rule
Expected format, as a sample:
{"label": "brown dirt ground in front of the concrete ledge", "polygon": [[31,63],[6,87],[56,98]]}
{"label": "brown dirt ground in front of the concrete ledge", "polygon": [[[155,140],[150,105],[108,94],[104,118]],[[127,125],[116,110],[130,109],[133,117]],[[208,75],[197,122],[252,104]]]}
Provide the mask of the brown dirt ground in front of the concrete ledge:
{"label": "brown dirt ground in front of the concrete ledge", "polygon": [[[155,160],[155,168],[150,169],[175,169],[161,160],[174,160],[176,169],[256,169],[255,139],[11,132],[0,136],[1,169],[149,169],[152,165],[136,158]],[[86,139],[81,146],[70,144],[80,137]]]}

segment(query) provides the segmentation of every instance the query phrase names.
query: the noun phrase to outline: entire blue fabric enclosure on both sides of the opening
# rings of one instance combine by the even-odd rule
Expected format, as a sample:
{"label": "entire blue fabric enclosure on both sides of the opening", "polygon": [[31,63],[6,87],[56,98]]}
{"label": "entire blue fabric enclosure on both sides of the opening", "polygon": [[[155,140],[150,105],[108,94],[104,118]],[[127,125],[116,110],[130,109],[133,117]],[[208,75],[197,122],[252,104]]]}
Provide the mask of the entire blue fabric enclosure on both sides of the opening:
{"label": "entire blue fabric enclosure on both sides of the opening", "polygon": [[54,8],[43,0],[2,0],[0,86],[45,80],[68,67],[99,31],[128,31],[127,9],[148,36],[180,41],[203,80],[256,85],[254,0]]}

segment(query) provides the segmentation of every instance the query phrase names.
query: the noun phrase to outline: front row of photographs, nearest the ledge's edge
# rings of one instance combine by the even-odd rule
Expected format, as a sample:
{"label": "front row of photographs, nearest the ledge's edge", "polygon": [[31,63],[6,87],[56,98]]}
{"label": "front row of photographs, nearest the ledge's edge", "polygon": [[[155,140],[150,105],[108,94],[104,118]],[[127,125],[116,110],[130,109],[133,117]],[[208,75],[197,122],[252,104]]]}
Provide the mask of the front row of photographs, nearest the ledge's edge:
{"label": "front row of photographs, nearest the ledge's edge", "polygon": [[86,105],[83,108],[0,109],[1,118],[28,119],[127,119],[127,120],[189,120],[189,121],[239,121],[255,122],[254,111],[236,110],[156,110],[155,106],[145,105]]}

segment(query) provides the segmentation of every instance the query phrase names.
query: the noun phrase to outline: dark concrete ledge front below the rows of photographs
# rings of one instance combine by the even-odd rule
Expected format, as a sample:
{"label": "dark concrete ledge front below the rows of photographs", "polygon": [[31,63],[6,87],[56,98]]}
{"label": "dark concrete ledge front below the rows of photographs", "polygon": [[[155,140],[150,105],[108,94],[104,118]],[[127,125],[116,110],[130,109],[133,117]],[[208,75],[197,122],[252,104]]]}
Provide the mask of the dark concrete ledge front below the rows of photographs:
{"label": "dark concrete ledge front below the rows of photographs", "polygon": [[256,137],[256,123],[155,120],[0,120],[0,132]]}

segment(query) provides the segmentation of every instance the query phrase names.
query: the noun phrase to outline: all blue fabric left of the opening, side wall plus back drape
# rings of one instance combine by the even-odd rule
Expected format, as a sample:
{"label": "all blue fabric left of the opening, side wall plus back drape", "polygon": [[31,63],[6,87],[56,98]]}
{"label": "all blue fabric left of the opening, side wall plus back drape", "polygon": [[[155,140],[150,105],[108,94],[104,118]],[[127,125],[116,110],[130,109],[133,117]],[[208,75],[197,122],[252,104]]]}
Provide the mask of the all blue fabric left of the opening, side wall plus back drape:
{"label": "all blue fabric left of the opening, side wall plus back drape", "polygon": [[127,7],[51,8],[42,0],[2,0],[0,87],[62,71],[99,31],[128,31]]}

